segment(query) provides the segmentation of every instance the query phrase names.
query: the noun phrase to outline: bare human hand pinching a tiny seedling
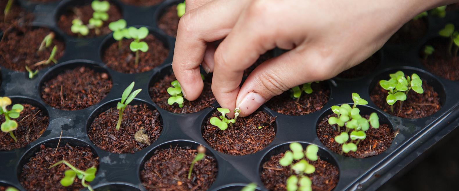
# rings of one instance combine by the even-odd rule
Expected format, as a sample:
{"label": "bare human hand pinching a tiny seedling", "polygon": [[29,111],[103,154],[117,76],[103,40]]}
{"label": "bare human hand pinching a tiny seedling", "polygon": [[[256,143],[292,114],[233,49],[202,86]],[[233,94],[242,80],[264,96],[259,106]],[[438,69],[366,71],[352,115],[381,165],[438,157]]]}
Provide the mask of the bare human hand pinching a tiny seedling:
{"label": "bare human hand pinching a tiny seedling", "polygon": [[[172,66],[187,100],[201,94],[202,64],[213,72],[220,106],[247,116],[285,90],[361,63],[418,13],[457,1],[187,0]],[[220,39],[218,48],[209,43]],[[290,51],[258,66],[239,87],[243,71],[275,47]]]}

